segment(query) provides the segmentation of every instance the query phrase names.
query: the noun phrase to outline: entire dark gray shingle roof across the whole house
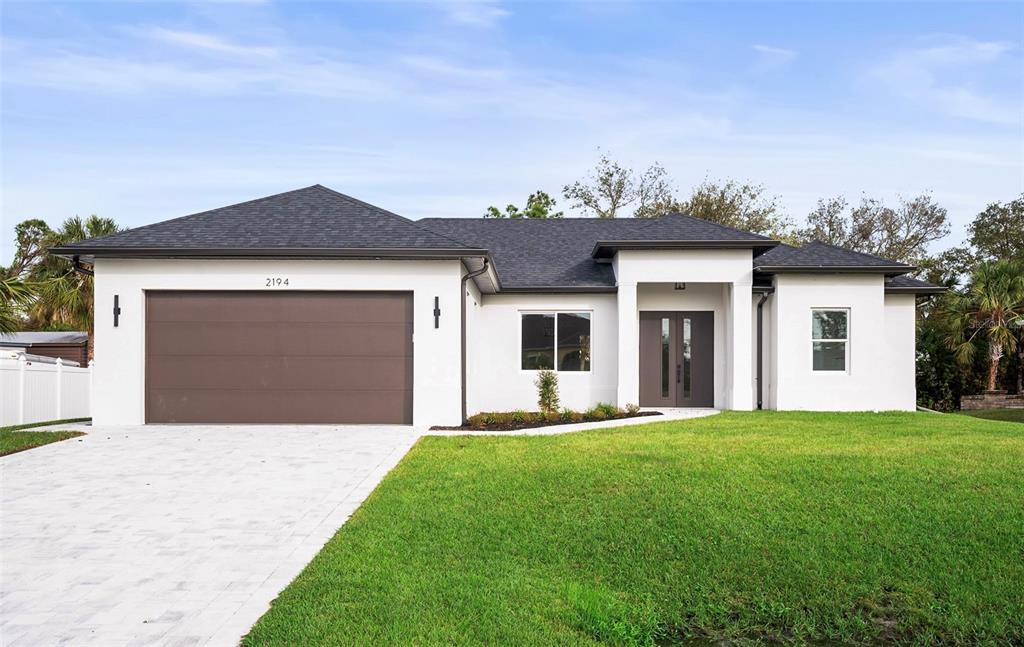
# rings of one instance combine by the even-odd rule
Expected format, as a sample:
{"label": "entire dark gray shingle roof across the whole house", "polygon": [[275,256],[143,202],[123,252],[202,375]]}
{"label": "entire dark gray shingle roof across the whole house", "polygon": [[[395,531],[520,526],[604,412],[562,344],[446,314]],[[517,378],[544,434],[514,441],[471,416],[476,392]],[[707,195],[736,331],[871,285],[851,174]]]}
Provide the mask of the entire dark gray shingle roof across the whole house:
{"label": "entire dark gray shingle roof across the whole house", "polygon": [[[428,218],[414,222],[315,184],[52,251],[85,257],[143,253],[202,256],[198,252],[204,251],[207,256],[286,251],[315,255],[344,254],[346,250],[478,257],[485,251],[495,261],[503,289],[613,291],[611,265],[596,261],[594,256],[649,243],[721,243],[756,251],[775,245],[765,236],[683,214],[651,220]],[[755,257],[754,265],[766,272],[846,267],[894,275],[912,269],[823,243],[803,248],[780,245]],[[919,287],[926,289],[927,284]]]}

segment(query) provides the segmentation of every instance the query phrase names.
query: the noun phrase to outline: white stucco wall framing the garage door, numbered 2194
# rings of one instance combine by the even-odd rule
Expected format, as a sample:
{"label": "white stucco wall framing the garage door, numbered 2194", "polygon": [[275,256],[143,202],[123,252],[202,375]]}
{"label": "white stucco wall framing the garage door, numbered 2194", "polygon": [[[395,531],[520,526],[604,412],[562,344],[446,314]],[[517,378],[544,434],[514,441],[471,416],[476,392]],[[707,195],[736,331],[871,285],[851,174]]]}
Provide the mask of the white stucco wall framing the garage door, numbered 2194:
{"label": "white stucco wall framing the garage door, numbered 2194", "polygon": [[[461,268],[457,260],[98,259],[93,420],[97,425],[144,421],[146,290],[393,290],[414,295],[413,422],[459,424]],[[288,277],[289,286],[267,288],[267,277]],[[118,328],[111,315],[114,295],[120,295]],[[441,309],[438,329],[433,322],[435,296]]]}

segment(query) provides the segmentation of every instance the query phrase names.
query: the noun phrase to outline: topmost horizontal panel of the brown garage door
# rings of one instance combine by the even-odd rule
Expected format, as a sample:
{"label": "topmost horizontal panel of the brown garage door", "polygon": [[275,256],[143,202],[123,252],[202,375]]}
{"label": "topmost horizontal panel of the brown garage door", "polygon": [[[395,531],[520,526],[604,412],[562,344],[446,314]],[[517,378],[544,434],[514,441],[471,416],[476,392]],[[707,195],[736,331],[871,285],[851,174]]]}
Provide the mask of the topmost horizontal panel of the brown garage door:
{"label": "topmost horizontal panel of the brown garage door", "polygon": [[[155,292],[151,321],[381,323],[412,319],[412,300],[386,293]],[[344,298],[337,295],[344,294]]]}

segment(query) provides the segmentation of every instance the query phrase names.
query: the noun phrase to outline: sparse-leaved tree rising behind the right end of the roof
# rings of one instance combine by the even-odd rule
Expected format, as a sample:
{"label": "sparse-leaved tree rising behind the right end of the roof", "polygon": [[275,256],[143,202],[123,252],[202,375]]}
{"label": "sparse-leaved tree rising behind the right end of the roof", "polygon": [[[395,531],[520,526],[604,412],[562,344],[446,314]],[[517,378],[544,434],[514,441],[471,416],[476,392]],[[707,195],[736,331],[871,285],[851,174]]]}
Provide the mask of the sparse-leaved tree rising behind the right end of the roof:
{"label": "sparse-leaved tree rising behind the right end of the roof", "polygon": [[927,258],[931,243],[949,233],[945,208],[928,193],[909,201],[901,198],[895,208],[866,196],[849,212],[847,207],[842,197],[819,200],[800,239],[916,265]]}

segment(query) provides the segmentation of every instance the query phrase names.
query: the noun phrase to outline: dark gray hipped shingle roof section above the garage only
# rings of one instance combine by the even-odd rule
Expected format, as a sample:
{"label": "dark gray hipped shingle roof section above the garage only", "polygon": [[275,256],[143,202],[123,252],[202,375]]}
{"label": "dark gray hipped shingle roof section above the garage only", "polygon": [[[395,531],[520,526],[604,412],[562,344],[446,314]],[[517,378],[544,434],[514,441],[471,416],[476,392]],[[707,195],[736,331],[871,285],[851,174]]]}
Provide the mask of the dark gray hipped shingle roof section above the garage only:
{"label": "dark gray hipped shingle roof section above the garage only", "polygon": [[319,184],[166,220],[60,248],[168,250],[415,249],[464,245]]}

